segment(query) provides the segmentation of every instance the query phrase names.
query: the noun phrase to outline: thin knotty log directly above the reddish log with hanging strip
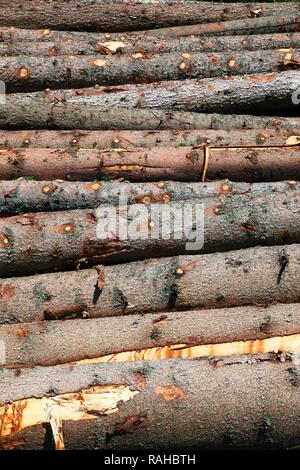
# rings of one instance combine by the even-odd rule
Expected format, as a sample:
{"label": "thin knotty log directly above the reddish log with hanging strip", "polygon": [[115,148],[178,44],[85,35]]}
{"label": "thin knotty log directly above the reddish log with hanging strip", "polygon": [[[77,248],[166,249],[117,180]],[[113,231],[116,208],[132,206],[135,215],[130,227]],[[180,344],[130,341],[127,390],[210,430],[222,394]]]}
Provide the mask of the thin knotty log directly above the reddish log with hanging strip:
{"label": "thin knotty log directly above the reddish log with hanging strip", "polygon": [[[229,117],[227,116],[228,120]],[[242,116],[241,116],[242,118]],[[222,117],[218,117],[222,119]],[[226,116],[223,116],[226,126]],[[238,119],[238,117],[237,117]],[[262,118],[263,121],[264,118]],[[274,118],[273,125],[276,123]],[[254,122],[255,122],[254,118]],[[257,120],[259,118],[257,117]],[[128,148],[128,147],[196,147],[201,144],[210,146],[246,147],[246,146],[280,146],[300,144],[299,127],[284,129],[284,119],[281,128],[261,129],[197,129],[193,131],[2,131],[0,130],[0,148]],[[267,126],[272,125],[272,119],[266,119]],[[292,124],[293,119],[290,119]],[[295,124],[297,119],[295,119]],[[211,119],[212,126],[214,125]]]}

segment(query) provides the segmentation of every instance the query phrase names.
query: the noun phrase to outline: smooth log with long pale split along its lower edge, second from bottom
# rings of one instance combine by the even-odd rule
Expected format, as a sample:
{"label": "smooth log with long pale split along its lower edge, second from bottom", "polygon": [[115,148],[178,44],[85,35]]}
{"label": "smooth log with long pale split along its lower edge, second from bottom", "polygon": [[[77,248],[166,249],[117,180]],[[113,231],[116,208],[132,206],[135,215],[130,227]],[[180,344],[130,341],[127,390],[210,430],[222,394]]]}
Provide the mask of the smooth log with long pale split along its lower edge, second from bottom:
{"label": "smooth log with long pale split along its lower edge, second from bottom", "polygon": [[201,345],[212,345],[209,356],[216,356],[220,343],[300,337],[300,304],[58,320],[50,326],[48,322],[0,326],[5,344],[1,366],[49,366],[89,359],[112,362],[118,356],[127,361],[132,356],[148,358],[151,354],[155,359],[182,358],[189,352],[199,357]]}

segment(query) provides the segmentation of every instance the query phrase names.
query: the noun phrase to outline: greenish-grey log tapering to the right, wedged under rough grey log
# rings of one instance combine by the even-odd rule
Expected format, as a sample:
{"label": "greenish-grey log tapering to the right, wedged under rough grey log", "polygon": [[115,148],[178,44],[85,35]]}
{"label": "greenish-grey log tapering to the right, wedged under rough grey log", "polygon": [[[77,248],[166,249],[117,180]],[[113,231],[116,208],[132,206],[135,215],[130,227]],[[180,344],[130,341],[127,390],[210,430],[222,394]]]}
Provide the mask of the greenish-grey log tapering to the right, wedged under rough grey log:
{"label": "greenish-grey log tapering to the right, wedged under rough grey log", "polygon": [[[300,127],[298,117],[252,116],[236,114],[198,114],[168,111],[162,108],[129,109],[107,108],[90,104],[59,102],[59,106],[45,101],[44,94],[17,93],[6,96],[0,104],[2,129],[98,129],[98,130],[157,130],[157,129],[236,129],[262,128],[295,129]],[[266,110],[264,110],[266,111]]]}

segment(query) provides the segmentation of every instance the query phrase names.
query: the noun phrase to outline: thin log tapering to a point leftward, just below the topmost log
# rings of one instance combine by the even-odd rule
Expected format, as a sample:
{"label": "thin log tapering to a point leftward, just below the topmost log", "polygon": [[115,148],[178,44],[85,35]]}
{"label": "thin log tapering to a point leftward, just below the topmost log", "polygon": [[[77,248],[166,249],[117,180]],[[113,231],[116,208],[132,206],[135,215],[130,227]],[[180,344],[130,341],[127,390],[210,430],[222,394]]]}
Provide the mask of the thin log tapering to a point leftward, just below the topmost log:
{"label": "thin log tapering to a point leftward, just below the topmost log", "polygon": [[[232,21],[173,26],[170,28],[148,29],[141,31],[141,36],[157,38],[177,38],[183,36],[226,36],[240,34],[286,33],[300,31],[299,13],[284,16],[266,16],[263,18],[243,18]],[[127,33],[136,35],[136,32]]]}

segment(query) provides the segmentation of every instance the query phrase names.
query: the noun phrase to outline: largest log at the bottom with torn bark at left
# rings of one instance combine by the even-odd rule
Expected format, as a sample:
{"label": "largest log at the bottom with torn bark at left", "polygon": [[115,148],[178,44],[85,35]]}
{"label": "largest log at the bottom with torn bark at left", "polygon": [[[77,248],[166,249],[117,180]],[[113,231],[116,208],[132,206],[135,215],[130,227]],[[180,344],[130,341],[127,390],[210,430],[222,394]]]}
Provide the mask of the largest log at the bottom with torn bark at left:
{"label": "largest log at the bottom with torn bark at left", "polygon": [[217,366],[203,359],[4,370],[1,444],[49,448],[54,433],[66,449],[292,447],[299,368],[283,361],[253,355]]}

